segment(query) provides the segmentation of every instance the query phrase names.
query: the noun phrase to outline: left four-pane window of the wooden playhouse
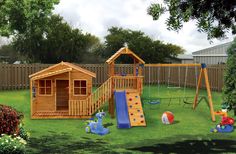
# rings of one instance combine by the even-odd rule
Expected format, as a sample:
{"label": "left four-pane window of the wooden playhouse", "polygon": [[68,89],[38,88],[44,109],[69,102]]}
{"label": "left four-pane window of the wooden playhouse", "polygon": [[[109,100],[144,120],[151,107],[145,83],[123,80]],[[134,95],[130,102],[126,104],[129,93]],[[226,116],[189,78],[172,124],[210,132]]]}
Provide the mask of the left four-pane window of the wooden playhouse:
{"label": "left four-pane window of the wooden playhouse", "polygon": [[39,94],[40,95],[52,94],[52,81],[51,80],[39,80]]}

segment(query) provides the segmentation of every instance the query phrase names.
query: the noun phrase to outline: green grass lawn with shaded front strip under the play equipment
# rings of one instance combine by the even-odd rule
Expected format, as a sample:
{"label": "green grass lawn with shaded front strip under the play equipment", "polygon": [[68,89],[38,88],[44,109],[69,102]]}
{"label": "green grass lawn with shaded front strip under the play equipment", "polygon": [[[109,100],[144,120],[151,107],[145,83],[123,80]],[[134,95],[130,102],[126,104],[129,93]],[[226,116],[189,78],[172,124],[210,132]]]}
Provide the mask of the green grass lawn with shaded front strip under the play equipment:
{"label": "green grass lawn with shaded front strip under the play equipment", "polygon": [[[150,93],[149,93],[150,91]],[[143,98],[160,97],[159,105],[150,105],[144,101],[144,113],[147,127],[117,129],[116,119],[107,115],[103,124],[110,133],[105,136],[85,133],[83,120],[31,120],[29,91],[0,92],[0,104],[6,104],[24,113],[26,129],[31,133],[27,144],[28,153],[142,153],[142,152],[177,152],[177,153],[212,153],[235,152],[236,133],[210,133],[210,129],[220,122],[211,122],[207,104],[201,102],[193,111],[192,105],[184,105],[174,97],[184,97],[183,89],[168,89],[161,86],[144,87]],[[187,89],[185,96],[192,97],[195,89]],[[206,95],[202,90],[201,95]],[[212,93],[215,110],[220,109],[221,93]],[[107,106],[104,106],[105,111]],[[161,115],[171,111],[175,123],[163,125]],[[232,117],[232,113],[230,113]]]}

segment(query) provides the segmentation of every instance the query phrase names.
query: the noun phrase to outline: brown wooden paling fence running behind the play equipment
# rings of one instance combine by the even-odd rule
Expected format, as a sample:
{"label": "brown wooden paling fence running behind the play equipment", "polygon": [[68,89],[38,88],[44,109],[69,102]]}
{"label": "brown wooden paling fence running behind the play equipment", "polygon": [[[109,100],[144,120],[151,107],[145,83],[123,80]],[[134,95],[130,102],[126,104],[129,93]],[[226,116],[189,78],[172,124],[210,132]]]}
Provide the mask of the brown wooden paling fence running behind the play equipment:
{"label": "brown wooden paling fence running behind the play equipment", "polygon": [[[0,64],[0,90],[18,90],[29,88],[29,75],[49,67],[49,64]],[[99,86],[108,79],[106,64],[80,64],[79,66],[96,73],[93,85]],[[212,90],[221,91],[223,87],[224,65],[208,66],[208,75]],[[116,65],[116,72],[130,74],[131,65]],[[195,87],[199,68],[195,67],[145,67],[144,84],[167,84]],[[204,80],[203,80],[204,82]],[[204,87],[204,84],[203,84]]]}

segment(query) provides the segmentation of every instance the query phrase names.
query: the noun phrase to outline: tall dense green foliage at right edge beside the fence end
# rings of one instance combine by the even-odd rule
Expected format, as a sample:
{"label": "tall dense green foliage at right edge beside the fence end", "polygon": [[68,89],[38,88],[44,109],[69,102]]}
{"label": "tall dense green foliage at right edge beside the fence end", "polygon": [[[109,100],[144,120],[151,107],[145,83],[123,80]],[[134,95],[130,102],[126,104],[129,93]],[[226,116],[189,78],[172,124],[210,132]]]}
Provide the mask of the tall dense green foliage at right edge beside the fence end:
{"label": "tall dense green foliage at right edge beside the fence end", "polygon": [[223,96],[225,103],[234,109],[234,115],[236,115],[236,38],[228,48],[227,54]]}

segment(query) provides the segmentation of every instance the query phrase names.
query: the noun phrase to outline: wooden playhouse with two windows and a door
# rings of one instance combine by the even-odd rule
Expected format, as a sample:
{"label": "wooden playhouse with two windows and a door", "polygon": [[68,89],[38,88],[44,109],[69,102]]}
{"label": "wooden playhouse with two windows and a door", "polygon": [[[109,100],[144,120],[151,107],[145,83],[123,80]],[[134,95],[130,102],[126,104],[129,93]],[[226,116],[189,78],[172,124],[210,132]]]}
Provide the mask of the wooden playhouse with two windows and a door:
{"label": "wooden playhouse with two windows and a door", "polygon": [[73,113],[77,105],[73,100],[84,100],[91,95],[95,73],[68,62],[61,62],[29,77],[32,118],[88,116]]}

